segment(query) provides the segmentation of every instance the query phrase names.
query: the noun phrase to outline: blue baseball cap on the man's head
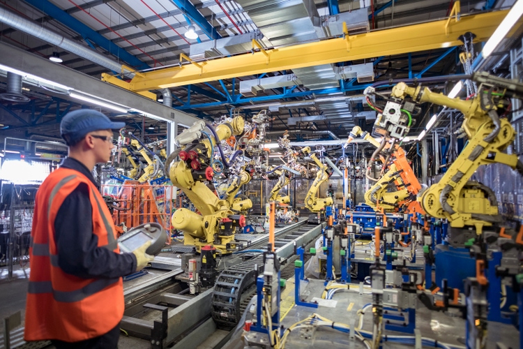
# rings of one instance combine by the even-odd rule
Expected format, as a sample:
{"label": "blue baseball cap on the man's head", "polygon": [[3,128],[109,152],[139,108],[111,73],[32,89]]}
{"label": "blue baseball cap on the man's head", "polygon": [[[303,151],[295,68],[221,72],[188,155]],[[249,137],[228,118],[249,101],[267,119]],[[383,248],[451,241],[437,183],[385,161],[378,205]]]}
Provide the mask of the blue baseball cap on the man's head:
{"label": "blue baseball cap on the man's head", "polygon": [[109,129],[119,130],[125,126],[125,122],[112,122],[98,110],[79,109],[68,112],[63,117],[60,123],[60,135],[68,144],[75,144],[89,132]]}

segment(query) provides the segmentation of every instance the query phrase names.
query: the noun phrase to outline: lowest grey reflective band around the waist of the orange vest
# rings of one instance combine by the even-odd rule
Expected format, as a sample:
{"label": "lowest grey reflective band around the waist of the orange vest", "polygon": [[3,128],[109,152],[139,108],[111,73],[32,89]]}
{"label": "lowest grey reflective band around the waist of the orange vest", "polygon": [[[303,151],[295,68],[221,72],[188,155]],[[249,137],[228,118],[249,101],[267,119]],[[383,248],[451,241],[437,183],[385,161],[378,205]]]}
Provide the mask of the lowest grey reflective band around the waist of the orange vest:
{"label": "lowest grey reflective band around the waist of the orange vest", "polygon": [[85,285],[83,288],[80,288],[79,290],[69,292],[54,290],[52,288],[51,281],[31,281],[29,282],[28,292],[33,294],[52,293],[54,300],[56,300],[57,302],[72,303],[81,301],[82,299],[85,299],[90,295],[94,295],[95,293],[100,292],[107,286],[112,285],[112,283],[119,281],[119,279],[120,278],[97,279],[96,281],[93,281],[92,283]]}

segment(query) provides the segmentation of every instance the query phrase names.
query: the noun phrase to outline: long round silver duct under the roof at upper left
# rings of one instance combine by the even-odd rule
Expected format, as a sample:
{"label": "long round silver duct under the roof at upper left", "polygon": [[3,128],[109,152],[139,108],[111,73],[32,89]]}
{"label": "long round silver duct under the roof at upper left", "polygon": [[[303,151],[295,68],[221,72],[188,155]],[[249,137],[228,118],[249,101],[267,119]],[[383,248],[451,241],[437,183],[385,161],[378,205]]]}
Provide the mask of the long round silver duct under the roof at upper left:
{"label": "long round silver duct under the roof at upper left", "polygon": [[[0,7],[0,22],[7,24],[9,27],[23,31],[26,34],[44,40],[51,45],[61,47],[63,50],[76,54],[79,57],[87,59],[95,64],[103,66],[107,69],[120,72],[122,70],[122,65],[116,63],[109,57],[104,56],[91,50],[91,48],[62,36],[61,34],[55,33],[46,29],[41,24],[33,22],[31,20],[26,20],[24,17],[21,17],[6,8]],[[126,69],[126,75],[132,77],[130,70]]]}

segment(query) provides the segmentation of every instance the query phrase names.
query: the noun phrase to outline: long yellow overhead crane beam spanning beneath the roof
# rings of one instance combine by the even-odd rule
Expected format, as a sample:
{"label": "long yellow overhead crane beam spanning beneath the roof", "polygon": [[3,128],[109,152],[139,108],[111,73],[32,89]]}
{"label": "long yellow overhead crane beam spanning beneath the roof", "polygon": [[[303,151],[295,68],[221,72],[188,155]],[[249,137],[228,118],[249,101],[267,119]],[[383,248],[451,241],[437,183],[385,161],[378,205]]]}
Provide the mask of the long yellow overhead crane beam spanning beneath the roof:
{"label": "long yellow overhead crane beam spanning beneath the roof", "polygon": [[[467,31],[476,35],[476,42],[486,41],[494,33],[508,10],[477,15],[462,15],[460,20],[446,20],[413,24],[405,27],[345,35],[315,43],[287,47],[260,49],[254,53],[232,57],[192,61],[189,64],[160,68],[139,73],[129,83],[123,84],[116,77],[103,74],[102,79],[135,91],[183,86],[213,80],[255,75],[278,70],[319,66],[356,59],[389,56],[407,52],[434,50],[441,47],[463,45],[458,37]],[[253,43],[253,48],[259,48]]]}

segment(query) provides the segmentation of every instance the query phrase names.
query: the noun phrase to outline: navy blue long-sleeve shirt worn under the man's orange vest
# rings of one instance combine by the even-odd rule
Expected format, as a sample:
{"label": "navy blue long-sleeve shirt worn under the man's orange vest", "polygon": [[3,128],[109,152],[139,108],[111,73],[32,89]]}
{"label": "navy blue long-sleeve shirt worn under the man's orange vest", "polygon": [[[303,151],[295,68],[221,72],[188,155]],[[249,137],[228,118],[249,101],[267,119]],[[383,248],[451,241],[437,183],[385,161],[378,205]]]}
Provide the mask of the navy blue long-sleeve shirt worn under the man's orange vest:
{"label": "navy blue long-sleeve shirt worn under the man's orange vest", "polygon": [[[89,169],[74,158],[66,158],[61,167],[84,174],[98,187]],[[136,270],[134,254],[119,254],[98,247],[98,237],[93,234],[92,212],[89,186],[79,184],[63,201],[54,221],[59,267],[85,279],[112,279],[131,274]]]}

